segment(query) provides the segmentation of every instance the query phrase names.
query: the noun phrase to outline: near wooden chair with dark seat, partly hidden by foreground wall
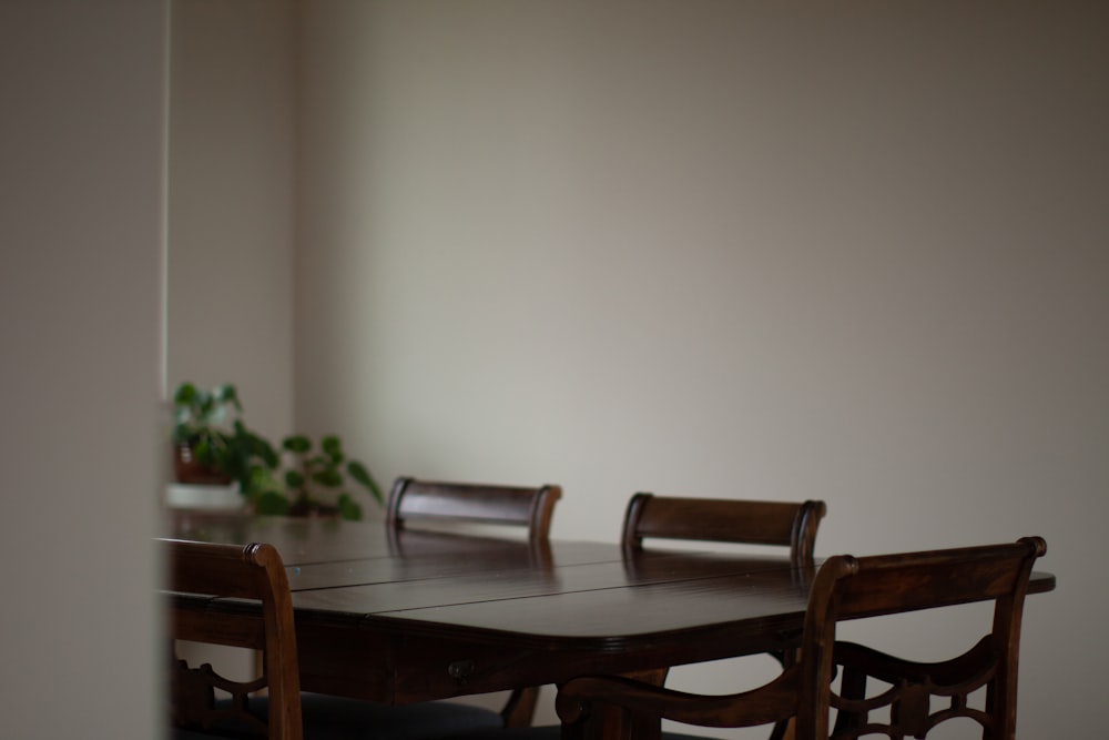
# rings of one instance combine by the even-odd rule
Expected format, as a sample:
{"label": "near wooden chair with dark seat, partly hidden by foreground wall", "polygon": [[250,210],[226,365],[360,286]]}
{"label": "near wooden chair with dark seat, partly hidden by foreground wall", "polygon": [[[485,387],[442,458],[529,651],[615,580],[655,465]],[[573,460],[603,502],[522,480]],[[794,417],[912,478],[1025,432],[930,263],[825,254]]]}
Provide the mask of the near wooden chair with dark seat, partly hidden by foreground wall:
{"label": "near wooden chair with dark seat, partly hidden by foreground wall", "polygon": [[[169,565],[170,636],[262,652],[263,675],[234,681],[211,665],[171,666],[171,738],[264,737],[272,740],[436,740],[459,730],[501,730],[491,709],[430,702],[390,707],[302,692],[288,580],[269,545],[165,543]],[[184,595],[255,599],[262,619],[243,619],[224,602],[225,620],[197,619],[175,608]],[[216,696],[216,689],[230,693]],[[264,691],[264,693],[260,693]]]}

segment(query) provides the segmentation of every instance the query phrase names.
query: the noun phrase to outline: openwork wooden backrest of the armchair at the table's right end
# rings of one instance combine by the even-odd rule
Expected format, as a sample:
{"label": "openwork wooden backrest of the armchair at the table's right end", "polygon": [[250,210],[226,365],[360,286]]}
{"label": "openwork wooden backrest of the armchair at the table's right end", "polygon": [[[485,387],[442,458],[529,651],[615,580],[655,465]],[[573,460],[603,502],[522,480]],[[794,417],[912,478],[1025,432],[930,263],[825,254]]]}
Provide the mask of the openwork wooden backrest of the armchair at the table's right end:
{"label": "openwork wooden backrest of the armchair at the table's right end", "polygon": [[[826,732],[831,706],[837,710],[831,737],[837,739],[883,727],[889,737],[924,738],[939,722],[968,718],[981,726],[983,737],[1011,740],[1025,596],[1032,565],[1046,551],[1042,538],[1025,537],[1011,545],[830,558],[813,585],[802,648],[803,660],[806,650],[811,653],[810,675],[828,679],[810,685],[808,693],[816,699],[812,706],[821,711],[808,727],[817,737]],[[942,662],[909,661],[856,642],[833,641],[836,621],[974,601],[994,602],[989,632],[962,656]],[[824,646],[833,646],[831,655]],[[838,693],[830,688],[832,666],[843,676]],[[868,677],[891,686],[867,698]],[[979,689],[985,689],[985,702],[975,708],[968,698]],[[948,706],[933,712],[933,698]],[[889,709],[886,719],[871,716],[884,708]]]}

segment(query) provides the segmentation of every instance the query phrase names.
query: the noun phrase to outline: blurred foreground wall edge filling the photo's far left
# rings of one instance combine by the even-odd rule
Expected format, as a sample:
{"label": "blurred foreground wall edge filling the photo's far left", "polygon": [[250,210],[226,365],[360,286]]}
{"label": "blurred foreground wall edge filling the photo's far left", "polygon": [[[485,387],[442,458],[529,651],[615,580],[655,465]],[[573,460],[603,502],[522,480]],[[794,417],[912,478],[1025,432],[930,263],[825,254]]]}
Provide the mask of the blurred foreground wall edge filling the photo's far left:
{"label": "blurred foreground wall edge filling the photo's far left", "polygon": [[0,736],[157,737],[164,0],[0,2]]}

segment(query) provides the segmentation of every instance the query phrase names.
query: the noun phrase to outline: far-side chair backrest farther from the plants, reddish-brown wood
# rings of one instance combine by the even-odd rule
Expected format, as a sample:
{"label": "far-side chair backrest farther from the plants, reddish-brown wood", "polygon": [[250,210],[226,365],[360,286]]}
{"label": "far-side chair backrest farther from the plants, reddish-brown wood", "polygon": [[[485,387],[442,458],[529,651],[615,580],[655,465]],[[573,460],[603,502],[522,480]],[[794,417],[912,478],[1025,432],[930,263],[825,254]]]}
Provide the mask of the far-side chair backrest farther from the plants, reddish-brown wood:
{"label": "far-side chair backrest farther from the plants, reddish-brown wood", "polygon": [[824,501],[791,504],[729,498],[679,498],[639,493],[624,515],[625,550],[643,547],[643,538],[690,539],[790,548],[795,562],[812,564]]}

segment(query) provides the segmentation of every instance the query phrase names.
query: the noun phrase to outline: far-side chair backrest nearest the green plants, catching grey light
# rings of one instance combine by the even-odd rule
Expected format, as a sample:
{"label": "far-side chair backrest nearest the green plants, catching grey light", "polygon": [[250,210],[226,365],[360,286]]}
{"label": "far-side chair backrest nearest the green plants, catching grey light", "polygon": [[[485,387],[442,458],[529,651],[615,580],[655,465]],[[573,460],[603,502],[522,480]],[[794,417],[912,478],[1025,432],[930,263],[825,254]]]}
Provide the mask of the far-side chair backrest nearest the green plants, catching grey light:
{"label": "far-side chair backrest nearest the green plants, catching grey light", "polygon": [[386,524],[393,530],[423,523],[459,520],[527,527],[528,539],[546,541],[562,489],[397,478],[389,491]]}

